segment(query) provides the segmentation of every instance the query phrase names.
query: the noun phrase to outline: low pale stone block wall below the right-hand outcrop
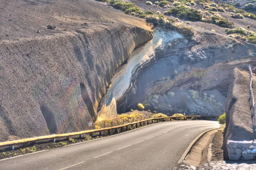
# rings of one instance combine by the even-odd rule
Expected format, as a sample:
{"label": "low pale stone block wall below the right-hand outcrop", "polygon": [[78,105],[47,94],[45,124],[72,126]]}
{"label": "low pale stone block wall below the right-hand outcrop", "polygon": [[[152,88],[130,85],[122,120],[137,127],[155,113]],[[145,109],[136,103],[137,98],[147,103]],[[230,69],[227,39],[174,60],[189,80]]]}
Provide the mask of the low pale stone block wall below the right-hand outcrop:
{"label": "low pale stone block wall below the right-hand outcrop", "polygon": [[231,161],[256,159],[256,140],[227,141],[228,156]]}

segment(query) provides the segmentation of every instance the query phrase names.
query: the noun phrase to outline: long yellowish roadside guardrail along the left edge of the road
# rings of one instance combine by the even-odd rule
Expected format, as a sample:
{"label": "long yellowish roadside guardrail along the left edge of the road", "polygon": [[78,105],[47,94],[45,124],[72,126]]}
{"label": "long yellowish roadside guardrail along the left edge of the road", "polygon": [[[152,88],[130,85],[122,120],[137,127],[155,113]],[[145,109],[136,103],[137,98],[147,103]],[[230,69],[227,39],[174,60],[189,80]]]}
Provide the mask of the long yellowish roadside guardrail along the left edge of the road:
{"label": "long yellowish roadside guardrail along the left edge of the road", "polygon": [[[162,118],[149,118],[149,119],[144,119],[141,121],[136,121],[136,122],[131,122],[128,124],[123,124],[123,125],[119,125],[119,126],[113,126],[113,127],[106,127],[106,128],[101,128],[101,129],[95,129],[95,130],[85,130],[85,131],[80,131],[80,132],[74,132],[74,133],[64,133],[64,134],[52,134],[52,135],[46,135],[46,136],[39,136],[39,137],[33,137],[33,138],[25,138],[25,139],[20,139],[20,140],[15,140],[15,141],[5,141],[5,142],[0,142],[0,147],[7,147],[7,146],[11,146],[11,149],[14,149],[15,145],[18,144],[29,144],[31,142],[36,142],[36,141],[45,141],[45,140],[51,140],[53,142],[55,142],[56,138],[67,138],[69,139],[71,136],[77,136],[79,135],[79,138],[84,138],[84,134],[90,134],[92,135],[95,132],[99,132],[99,135],[102,135],[102,131],[108,131],[108,135],[113,133],[113,130],[115,131],[114,133],[117,133],[117,131],[120,129],[121,132],[128,130],[128,126],[132,126],[134,127],[134,124],[136,125],[136,128],[138,127],[138,124],[140,124],[140,126],[142,125],[148,125],[148,124],[153,124],[154,121],[159,121],[160,119],[162,119],[163,121],[165,119],[168,119],[168,121],[171,121],[172,119],[177,119],[179,120],[180,118],[217,118],[216,116],[173,116],[173,117],[162,117]],[[151,122],[150,122],[151,121]]]}

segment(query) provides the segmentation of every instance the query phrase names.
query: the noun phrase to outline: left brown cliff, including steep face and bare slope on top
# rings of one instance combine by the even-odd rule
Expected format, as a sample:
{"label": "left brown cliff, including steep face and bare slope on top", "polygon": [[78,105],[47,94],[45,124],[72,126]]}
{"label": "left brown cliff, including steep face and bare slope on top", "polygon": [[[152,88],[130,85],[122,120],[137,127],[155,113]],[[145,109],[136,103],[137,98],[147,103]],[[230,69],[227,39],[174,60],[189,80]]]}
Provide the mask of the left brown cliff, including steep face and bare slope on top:
{"label": "left brown cliff, including steep face and bare slope on top", "polygon": [[0,141],[87,129],[116,70],[152,39],[143,20],[93,0],[17,1],[1,14],[14,9],[0,17]]}

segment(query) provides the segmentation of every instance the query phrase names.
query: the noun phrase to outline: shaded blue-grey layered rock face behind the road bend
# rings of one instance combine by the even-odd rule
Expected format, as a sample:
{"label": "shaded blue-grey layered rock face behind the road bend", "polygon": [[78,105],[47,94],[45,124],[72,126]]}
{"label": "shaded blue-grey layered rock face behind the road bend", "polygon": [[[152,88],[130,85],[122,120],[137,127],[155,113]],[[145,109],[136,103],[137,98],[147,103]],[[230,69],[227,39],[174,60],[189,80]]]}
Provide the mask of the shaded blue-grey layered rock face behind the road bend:
{"label": "shaded blue-grey layered rock face behind the road bend", "polygon": [[[209,43],[211,42],[211,43]],[[220,115],[225,111],[229,80],[235,67],[254,63],[255,46],[207,32],[179,38],[155,49],[156,61],[133,79],[117,112],[143,103],[163,113]]]}

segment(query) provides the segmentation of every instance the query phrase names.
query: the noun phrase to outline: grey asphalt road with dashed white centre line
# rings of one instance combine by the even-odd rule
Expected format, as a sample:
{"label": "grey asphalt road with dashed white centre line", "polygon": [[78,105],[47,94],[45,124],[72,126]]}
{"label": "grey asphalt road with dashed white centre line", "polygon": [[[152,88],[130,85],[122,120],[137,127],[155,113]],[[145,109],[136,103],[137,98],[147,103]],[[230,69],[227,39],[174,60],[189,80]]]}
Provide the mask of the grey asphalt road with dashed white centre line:
{"label": "grey asphalt road with dashed white centre line", "polygon": [[106,138],[0,161],[0,170],[172,170],[217,121],[152,124]]}

